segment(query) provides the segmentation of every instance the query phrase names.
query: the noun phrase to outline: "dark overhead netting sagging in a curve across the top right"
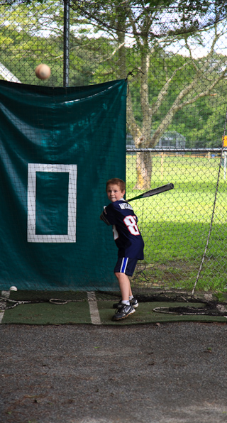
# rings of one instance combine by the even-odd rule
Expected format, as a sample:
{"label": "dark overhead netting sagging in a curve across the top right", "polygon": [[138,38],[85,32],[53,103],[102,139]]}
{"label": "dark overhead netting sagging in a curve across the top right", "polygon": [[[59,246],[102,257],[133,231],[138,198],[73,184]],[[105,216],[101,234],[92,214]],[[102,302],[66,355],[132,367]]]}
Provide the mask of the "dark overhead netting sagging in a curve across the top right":
{"label": "dark overhead netting sagging in a curve across the top right", "polygon": [[143,40],[196,31],[220,21],[227,13],[227,7],[218,0],[71,0],[70,6],[96,26],[138,35]]}

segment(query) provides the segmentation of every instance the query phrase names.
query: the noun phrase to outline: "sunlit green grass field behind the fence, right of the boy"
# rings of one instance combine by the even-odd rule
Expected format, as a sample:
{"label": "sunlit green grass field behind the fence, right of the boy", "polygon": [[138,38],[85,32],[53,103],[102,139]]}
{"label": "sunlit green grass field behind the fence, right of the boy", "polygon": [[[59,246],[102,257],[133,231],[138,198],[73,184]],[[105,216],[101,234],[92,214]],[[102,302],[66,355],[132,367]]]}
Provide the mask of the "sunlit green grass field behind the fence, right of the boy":
{"label": "sunlit green grass field behind the fence, right of the boy", "polygon": [[[135,156],[127,156],[126,198],[136,194]],[[145,241],[145,260],[134,283],[140,287],[191,290],[209,235],[220,158],[153,157],[151,187],[174,183],[169,192],[132,202]],[[209,245],[196,289],[226,288],[227,193],[221,167]]]}

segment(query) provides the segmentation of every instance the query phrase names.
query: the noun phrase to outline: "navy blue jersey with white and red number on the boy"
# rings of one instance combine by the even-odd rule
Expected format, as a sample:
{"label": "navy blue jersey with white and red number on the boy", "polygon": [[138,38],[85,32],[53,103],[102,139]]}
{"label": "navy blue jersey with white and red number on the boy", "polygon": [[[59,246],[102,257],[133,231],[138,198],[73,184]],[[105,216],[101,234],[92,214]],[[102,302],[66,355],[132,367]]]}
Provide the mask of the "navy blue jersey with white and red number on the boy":
{"label": "navy blue jersey with white and red number on the boy", "polygon": [[113,225],[114,241],[118,247],[118,257],[143,260],[143,238],[137,226],[138,218],[130,204],[120,199],[105,207],[101,219]]}

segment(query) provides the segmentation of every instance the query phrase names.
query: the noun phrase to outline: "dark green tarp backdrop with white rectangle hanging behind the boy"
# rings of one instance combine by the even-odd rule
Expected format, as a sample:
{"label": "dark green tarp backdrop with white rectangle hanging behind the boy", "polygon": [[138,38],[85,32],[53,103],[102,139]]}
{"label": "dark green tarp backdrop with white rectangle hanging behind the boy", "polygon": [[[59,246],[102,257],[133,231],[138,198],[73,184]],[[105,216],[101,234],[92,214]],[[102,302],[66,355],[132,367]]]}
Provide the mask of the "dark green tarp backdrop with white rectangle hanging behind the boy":
{"label": "dark green tarp backdrop with white rectangle hanging behind the boy", "polygon": [[89,87],[0,81],[0,289],[111,290],[99,216],[125,178],[126,79]]}

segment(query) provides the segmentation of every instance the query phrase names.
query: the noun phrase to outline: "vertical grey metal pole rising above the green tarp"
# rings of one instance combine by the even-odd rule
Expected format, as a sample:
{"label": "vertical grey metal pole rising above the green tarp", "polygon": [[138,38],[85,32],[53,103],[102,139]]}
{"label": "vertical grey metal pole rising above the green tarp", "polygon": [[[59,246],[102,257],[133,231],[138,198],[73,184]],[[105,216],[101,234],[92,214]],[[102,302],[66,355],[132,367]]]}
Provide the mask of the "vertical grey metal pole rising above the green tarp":
{"label": "vertical grey metal pole rising above the green tarp", "polygon": [[63,87],[69,87],[69,73],[70,73],[70,0],[64,0]]}

